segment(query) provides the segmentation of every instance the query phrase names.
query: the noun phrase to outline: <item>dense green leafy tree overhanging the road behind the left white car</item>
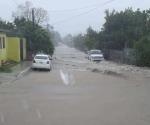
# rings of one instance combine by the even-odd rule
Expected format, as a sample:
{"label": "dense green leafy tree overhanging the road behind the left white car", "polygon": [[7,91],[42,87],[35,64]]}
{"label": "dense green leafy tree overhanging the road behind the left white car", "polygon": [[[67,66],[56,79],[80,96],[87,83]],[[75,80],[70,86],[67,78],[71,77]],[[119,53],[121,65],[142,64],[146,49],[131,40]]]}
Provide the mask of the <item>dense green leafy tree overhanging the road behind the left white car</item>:
{"label": "dense green leafy tree overhanging the road behind the left white car", "polygon": [[27,48],[34,53],[44,51],[45,53],[53,54],[54,46],[51,41],[50,33],[31,21],[27,21],[25,18],[16,18],[14,20],[17,30],[22,33],[28,41]]}

